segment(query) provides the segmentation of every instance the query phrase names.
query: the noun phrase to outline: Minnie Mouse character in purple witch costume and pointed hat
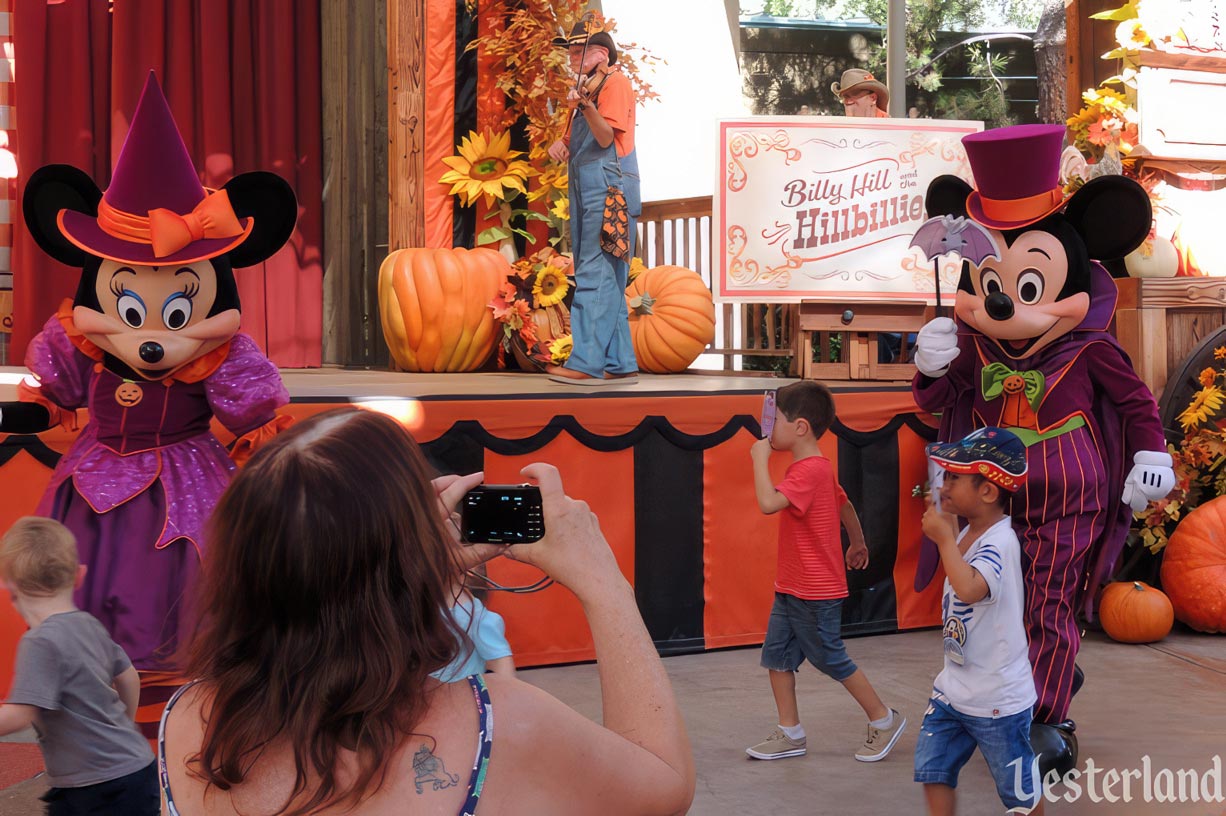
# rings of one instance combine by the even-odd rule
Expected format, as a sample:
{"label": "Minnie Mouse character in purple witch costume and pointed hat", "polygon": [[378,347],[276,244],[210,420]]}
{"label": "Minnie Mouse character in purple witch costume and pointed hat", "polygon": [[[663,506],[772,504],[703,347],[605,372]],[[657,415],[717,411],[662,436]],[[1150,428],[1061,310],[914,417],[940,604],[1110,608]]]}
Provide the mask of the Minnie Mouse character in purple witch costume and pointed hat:
{"label": "Minnie Mouse character in purple witch costume and pointed hat", "polygon": [[233,267],[289,238],[293,191],[271,173],[206,190],[151,74],[105,194],[81,170],[48,165],[26,185],[26,225],[51,257],[81,267],[26,352],[36,382],[0,404],[0,431],[89,420],[60,459],[38,515],[64,522],[88,570],[76,603],[137,669],[168,668],[191,620],[185,591],[201,532],[235,458],[288,424],[281,375],[239,333]]}

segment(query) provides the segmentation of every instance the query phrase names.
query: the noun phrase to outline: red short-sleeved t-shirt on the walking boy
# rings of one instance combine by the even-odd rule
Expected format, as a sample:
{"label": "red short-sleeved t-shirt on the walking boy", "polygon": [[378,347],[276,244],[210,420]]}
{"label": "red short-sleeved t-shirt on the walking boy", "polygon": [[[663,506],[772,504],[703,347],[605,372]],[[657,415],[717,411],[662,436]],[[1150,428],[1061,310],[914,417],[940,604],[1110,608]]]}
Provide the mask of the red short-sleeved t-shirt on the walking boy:
{"label": "red short-sleeved t-shirt on the walking boy", "polygon": [[810,456],[792,462],[775,489],[788,501],[779,519],[775,592],[804,600],[846,598],[839,511],[847,494],[830,459]]}

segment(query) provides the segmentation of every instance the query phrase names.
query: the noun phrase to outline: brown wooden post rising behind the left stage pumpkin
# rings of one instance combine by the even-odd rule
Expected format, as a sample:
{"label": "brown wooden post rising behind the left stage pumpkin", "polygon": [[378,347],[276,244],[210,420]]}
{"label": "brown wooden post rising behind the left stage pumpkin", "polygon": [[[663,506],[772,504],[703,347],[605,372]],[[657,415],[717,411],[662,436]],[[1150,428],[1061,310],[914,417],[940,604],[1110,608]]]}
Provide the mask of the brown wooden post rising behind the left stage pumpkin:
{"label": "brown wooden post rising behind the left stage pumpkin", "polygon": [[425,245],[425,0],[387,0],[387,249]]}

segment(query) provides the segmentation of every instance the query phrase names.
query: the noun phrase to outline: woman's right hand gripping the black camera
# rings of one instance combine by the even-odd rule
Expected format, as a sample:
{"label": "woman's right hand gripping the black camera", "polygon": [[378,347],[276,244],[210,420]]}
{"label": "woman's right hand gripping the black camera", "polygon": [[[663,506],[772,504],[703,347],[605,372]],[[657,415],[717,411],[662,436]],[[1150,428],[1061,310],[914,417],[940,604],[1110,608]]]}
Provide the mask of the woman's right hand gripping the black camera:
{"label": "woman's right hand gripping the black camera", "polygon": [[543,570],[580,600],[587,592],[609,586],[612,576],[620,577],[617,559],[601,533],[596,515],[587,502],[565,494],[558,468],[536,462],[520,473],[536,480],[541,488],[544,538],[531,544],[515,544],[506,556]]}

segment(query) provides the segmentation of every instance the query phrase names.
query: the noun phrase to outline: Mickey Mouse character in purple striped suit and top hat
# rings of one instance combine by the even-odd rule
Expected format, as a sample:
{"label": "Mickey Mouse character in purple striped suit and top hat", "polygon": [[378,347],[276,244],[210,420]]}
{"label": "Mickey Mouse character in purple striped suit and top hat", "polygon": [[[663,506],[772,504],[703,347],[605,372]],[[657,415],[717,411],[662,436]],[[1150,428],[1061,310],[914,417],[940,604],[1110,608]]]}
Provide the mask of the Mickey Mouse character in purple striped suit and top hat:
{"label": "Mickey Mouse character in purple striped suit and top hat", "polygon": [[[929,217],[988,228],[996,257],[964,259],[956,322],[938,317],[920,331],[912,391],[921,408],[942,414],[940,439],[997,425],[1026,445],[1013,516],[1038,693],[1032,740],[1075,762],[1076,610],[1092,614],[1130,512],[1163,497],[1175,473],[1154,396],[1107,332],[1114,282],[1091,260],[1140,245],[1149,197],[1123,176],[1068,196],[1058,178],[1063,136],[1059,125],[966,136],[978,187],[951,175],[929,185]],[[935,566],[934,549],[924,553],[917,588]]]}

